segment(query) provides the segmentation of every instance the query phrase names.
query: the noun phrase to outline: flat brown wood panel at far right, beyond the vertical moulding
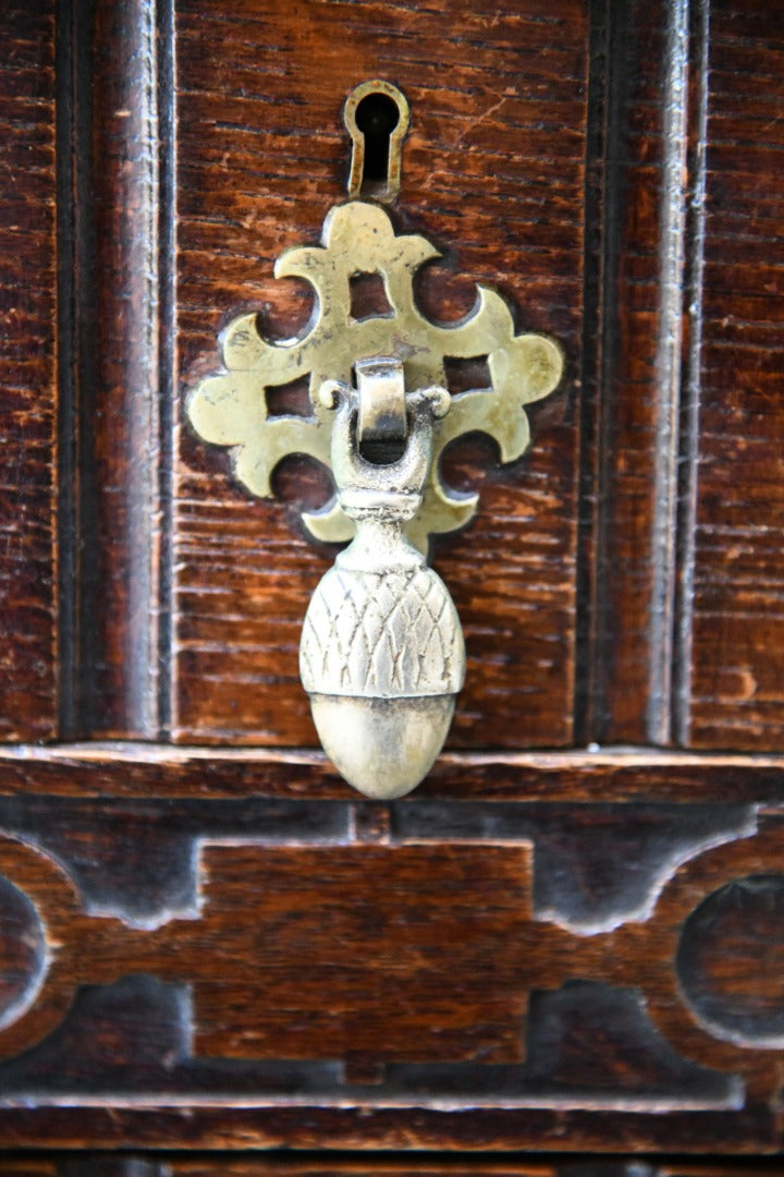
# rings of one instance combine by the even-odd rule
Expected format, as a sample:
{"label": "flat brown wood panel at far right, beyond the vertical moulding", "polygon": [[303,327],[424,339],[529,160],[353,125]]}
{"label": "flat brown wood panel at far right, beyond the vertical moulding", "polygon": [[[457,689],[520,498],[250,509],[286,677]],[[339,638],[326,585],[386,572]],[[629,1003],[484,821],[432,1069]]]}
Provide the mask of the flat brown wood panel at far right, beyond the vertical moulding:
{"label": "flat brown wood panel at far right, beyond the vertical moulding", "polygon": [[776,6],[711,5],[688,739],[784,743],[784,248]]}

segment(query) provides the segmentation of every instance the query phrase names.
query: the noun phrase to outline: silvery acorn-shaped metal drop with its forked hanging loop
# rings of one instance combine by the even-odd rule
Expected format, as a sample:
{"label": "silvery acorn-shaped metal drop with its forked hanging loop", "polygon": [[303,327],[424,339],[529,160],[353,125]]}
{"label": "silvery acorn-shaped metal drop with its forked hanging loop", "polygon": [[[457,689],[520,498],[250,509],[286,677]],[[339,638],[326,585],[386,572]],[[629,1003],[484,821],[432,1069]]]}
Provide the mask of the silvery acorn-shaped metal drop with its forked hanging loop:
{"label": "silvery acorn-shaped metal drop with its forked hanging loop", "polygon": [[[397,361],[383,363],[402,383]],[[361,387],[371,394],[373,380]],[[406,448],[387,465],[360,452],[360,392],[328,381],[320,397],[337,412],[333,472],[357,531],[310,600],[300,673],[337,770],[368,797],[390,799],[415,789],[430,769],[465,674],[453,599],[404,534],[422,501],[434,423],[448,411],[449,394],[438,387],[406,393]]]}

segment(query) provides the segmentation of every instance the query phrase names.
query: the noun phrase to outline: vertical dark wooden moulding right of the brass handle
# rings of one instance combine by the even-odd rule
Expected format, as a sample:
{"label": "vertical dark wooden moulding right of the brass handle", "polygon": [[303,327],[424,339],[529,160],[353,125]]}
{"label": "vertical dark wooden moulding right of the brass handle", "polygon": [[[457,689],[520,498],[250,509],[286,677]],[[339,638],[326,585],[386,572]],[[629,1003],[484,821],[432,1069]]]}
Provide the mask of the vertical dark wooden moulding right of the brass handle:
{"label": "vertical dark wooden moulding right of the brass handle", "polygon": [[577,724],[666,745],[706,33],[699,4],[594,11]]}

